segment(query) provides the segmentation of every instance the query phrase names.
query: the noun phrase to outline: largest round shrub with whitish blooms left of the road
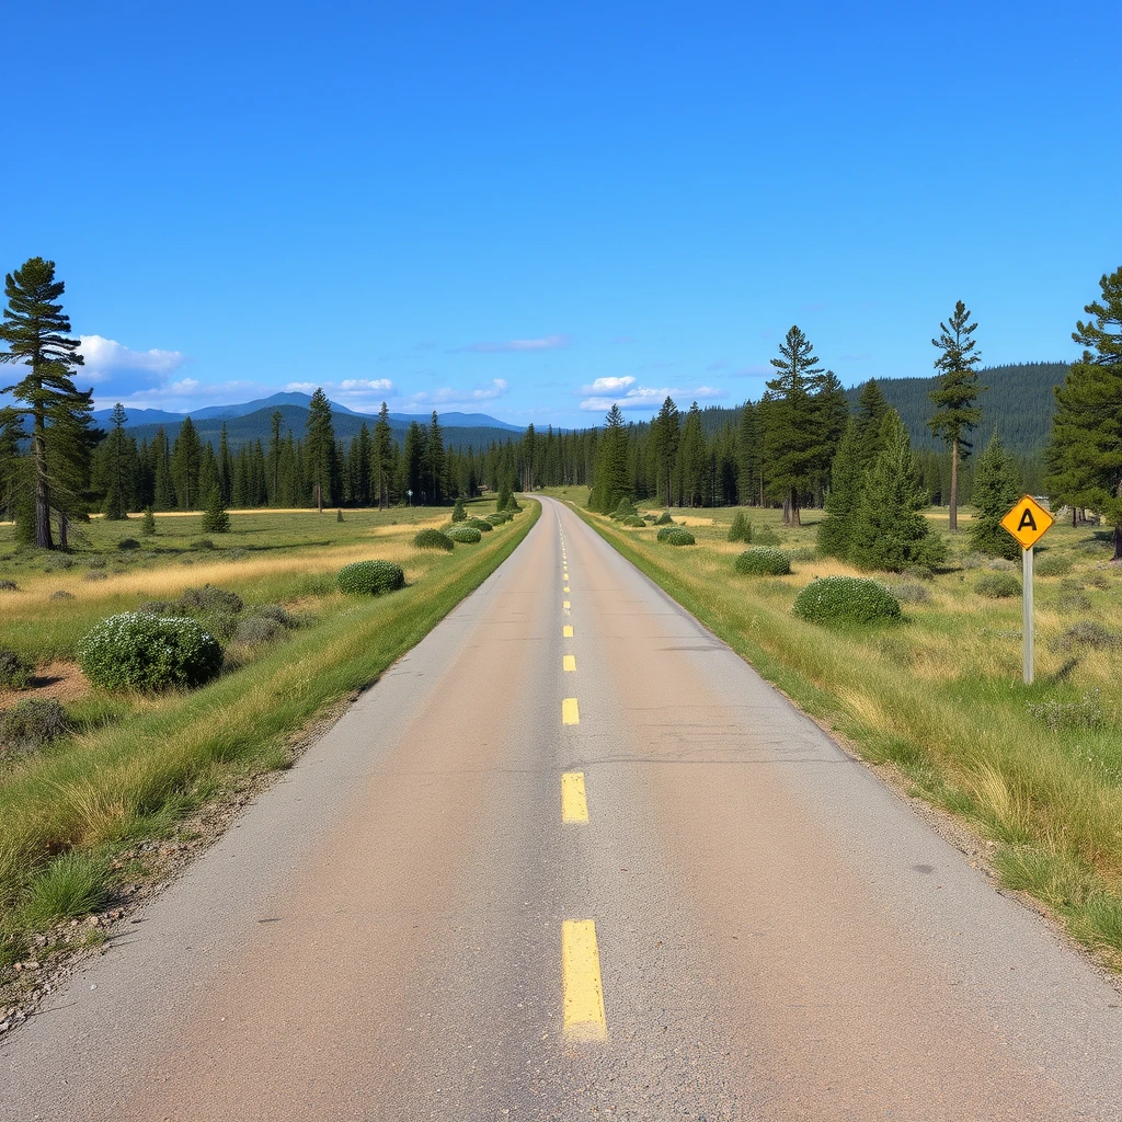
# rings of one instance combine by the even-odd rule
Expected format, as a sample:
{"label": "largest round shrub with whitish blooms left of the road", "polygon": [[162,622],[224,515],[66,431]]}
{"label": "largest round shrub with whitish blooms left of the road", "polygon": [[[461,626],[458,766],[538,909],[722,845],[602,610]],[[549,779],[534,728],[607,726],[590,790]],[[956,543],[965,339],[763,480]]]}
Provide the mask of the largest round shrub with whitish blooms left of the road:
{"label": "largest round shrub with whitish blooms left of the road", "polygon": [[222,669],[222,647],[196,619],[122,611],[79,642],[77,663],[105,689],[202,686]]}

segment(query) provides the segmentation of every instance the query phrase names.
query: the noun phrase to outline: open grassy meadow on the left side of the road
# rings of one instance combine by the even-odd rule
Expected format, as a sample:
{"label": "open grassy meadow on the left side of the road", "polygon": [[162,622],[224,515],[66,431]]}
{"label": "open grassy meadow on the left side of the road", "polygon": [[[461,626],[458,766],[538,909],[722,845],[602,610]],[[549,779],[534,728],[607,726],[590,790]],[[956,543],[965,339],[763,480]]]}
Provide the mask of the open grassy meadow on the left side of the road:
{"label": "open grassy meadow on the left side of the road", "polygon": [[[467,511],[493,515],[495,503]],[[72,938],[73,917],[144,880],[138,846],[173,838],[200,808],[291,764],[301,734],[423,638],[539,513],[526,503],[450,552],[413,544],[417,531],[447,527],[449,508],[347,511],[342,521],[334,511],[231,512],[229,532],[210,540],[197,514],[157,515],[147,536],[138,517],[94,519],[68,554],[19,548],[0,526],[0,659],[8,652],[9,670],[22,670],[18,688],[0,690],[0,984],[30,938],[45,944],[42,957]],[[376,559],[401,565],[405,587],[339,590],[343,565]],[[141,607],[193,614],[222,644],[221,673],[194,690],[93,688],[75,661],[80,641]],[[61,727],[13,732],[28,699],[58,702]]]}

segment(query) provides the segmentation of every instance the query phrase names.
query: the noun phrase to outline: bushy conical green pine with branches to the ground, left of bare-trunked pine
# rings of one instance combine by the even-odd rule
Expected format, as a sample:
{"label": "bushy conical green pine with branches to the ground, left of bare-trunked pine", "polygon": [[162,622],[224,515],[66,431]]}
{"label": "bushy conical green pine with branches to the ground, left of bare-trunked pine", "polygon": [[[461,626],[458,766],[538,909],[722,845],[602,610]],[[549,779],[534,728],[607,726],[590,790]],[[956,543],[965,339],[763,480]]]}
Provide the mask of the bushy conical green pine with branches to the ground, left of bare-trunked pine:
{"label": "bushy conical green pine with branches to the ground, left of bare-trunked pine", "polygon": [[889,572],[939,564],[946,545],[931,533],[922,514],[930,506],[930,496],[920,486],[908,430],[895,410],[884,417],[881,432],[884,450],[864,480],[848,560],[862,569]]}

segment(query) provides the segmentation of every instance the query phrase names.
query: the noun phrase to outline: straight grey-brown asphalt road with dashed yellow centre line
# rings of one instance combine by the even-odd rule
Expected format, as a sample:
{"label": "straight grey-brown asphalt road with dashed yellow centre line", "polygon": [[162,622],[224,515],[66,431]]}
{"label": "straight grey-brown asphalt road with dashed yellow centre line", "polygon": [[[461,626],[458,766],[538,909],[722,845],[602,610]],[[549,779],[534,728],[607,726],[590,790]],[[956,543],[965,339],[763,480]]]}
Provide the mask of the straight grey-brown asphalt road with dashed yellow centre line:
{"label": "straight grey-brown asphalt road with dashed yellow centre line", "polygon": [[0,1119],[1119,1119],[1120,1005],[545,500],[0,1045]]}

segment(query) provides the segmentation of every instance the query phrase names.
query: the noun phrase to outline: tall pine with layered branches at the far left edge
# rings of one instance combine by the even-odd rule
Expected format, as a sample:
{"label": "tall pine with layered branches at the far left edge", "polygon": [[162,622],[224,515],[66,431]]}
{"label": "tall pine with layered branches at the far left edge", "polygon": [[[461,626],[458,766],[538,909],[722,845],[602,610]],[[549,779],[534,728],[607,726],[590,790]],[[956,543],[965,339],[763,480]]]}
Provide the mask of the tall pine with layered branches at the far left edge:
{"label": "tall pine with layered branches at the far left edge", "polygon": [[[64,486],[65,478],[65,486],[72,488],[88,471],[91,443],[85,434],[91,427],[92,392],[80,392],[71,380],[83,359],[80,340],[70,338],[70,319],[58,303],[65,288],[62,280],[55,279],[54,261],[31,257],[4,278],[8,306],[0,324],[0,342],[8,344],[8,350],[0,352],[0,362],[15,362],[27,371],[19,383],[0,393],[10,393],[26,403],[15,412],[31,422],[35,542],[48,550],[55,548],[52,509],[58,509],[61,518],[66,517],[66,511],[52,500],[52,486]],[[53,425],[61,426],[54,449]],[[77,460],[68,463],[67,456]],[[64,525],[59,533],[65,534]]]}

